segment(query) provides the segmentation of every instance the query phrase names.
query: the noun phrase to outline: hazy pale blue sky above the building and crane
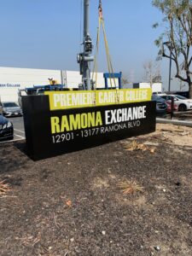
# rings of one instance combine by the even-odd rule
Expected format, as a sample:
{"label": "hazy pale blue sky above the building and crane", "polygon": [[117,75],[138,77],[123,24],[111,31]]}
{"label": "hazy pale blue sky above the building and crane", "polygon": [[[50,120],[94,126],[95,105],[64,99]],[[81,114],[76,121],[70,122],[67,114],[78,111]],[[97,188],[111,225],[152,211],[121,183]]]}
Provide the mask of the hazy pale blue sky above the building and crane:
{"label": "hazy pale blue sky above the building and crane", "polygon": [[[82,42],[82,0],[0,0],[0,66],[79,70],[76,56]],[[90,0],[90,36],[96,45],[98,2]],[[102,0],[110,55],[115,72],[134,82],[143,80],[143,63],[154,61],[152,25],[162,16],[151,0]],[[81,31],[80,31],[81,28]],[[99,71],[108,72],[101,41]],[[161,62],[167,88],[169,61]],[[173,84],[176,84],[174,80]]]}

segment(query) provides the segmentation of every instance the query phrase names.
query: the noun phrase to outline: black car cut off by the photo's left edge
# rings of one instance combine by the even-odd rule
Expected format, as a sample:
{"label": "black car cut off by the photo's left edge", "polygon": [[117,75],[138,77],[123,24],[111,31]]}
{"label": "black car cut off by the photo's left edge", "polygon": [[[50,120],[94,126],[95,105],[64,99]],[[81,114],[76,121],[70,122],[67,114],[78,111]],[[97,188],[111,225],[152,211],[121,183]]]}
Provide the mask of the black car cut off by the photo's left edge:
{"label": "black car cut off by the photo's left edge", "polygon": [[14,138],[14,126],[0,114],[0,142],[4,140],[12,140]]}

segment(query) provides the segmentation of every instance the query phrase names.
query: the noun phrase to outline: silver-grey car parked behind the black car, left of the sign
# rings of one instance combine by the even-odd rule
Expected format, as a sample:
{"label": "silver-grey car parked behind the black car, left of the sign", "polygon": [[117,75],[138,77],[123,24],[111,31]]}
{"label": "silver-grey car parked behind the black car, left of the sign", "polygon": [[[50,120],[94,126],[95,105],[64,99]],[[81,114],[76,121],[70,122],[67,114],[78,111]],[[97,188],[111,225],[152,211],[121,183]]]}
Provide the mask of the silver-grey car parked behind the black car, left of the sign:
{"label": "silver-grey car parked behind the black car, left of the sign", "polygon": [[2,102],[3,115],[9,116],[21,116],[22,109],[16,102]]}

